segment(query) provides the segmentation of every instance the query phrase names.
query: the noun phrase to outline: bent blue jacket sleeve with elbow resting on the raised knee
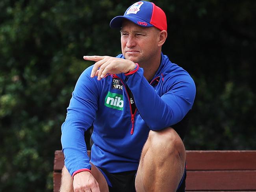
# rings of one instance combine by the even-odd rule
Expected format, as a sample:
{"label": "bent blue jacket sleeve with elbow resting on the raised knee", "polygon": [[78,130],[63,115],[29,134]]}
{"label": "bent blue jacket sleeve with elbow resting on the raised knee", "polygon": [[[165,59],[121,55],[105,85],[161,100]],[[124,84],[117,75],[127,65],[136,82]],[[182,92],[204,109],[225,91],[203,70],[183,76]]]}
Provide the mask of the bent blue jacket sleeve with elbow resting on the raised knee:
{"label": "bent blue jacket sleeve with elbow resting on the raised knee", "polygon": [[139,114],[151,130],[161,130],[180,122],[195,99],[195,83],[182,70],[163,82],[160,97],[143,76],[143,68],[128,77],[127,85],[134,95]]}

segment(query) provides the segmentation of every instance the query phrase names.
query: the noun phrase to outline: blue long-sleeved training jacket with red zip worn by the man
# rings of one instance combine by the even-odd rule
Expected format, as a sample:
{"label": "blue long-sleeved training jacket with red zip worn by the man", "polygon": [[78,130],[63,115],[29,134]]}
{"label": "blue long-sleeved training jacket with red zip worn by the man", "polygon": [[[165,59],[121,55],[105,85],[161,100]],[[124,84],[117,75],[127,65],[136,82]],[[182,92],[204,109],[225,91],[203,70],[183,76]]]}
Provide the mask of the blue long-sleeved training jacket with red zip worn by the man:
{"label": "blue long-sleeved training jacket with red zip worn by the man", "polygon": [[[124,58],[122,54],[117,57]],[[100,81],[90,77],[92,68],[85,69],[78,79],[61,127],[65,166],[70,175],[91,169],[84,132],[93,124],[91,162],[110,173],[137,170],[149,131],[184,118],[195,99],[195,83],[163,54],[150,84],[143,68],[129,76],[108,75]],[[134,95],[135,114],[126,86]]]}

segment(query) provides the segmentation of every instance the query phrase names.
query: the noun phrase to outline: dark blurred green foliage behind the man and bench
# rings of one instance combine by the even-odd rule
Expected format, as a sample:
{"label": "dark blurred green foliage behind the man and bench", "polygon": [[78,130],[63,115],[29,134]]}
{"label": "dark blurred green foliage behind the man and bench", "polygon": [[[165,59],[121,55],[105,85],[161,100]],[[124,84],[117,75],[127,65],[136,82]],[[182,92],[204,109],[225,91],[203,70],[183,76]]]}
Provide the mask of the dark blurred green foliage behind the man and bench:
{"label": "dark blurred green foliage behind the man and bench", "polygon": [[[193,76],[187,149],[255,149],[256,2],[155,1],[163,52]],[[120,53],[109,21],[128,0],[0,2],[0,191],[52,191],[54,150],[71,92],[91,65]]]}

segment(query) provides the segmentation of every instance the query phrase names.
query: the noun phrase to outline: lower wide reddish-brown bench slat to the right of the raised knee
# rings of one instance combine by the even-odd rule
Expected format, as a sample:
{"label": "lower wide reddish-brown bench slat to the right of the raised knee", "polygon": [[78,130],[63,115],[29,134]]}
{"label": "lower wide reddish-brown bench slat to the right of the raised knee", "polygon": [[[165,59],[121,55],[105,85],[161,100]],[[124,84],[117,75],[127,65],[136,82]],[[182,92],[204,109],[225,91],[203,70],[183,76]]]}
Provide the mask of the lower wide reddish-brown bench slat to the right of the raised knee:
{"label": "lower wide reddish-brown bench slat to the right of the raised knee", "polygon": [[256,190],[256,171],[187,171],[186,190]]}

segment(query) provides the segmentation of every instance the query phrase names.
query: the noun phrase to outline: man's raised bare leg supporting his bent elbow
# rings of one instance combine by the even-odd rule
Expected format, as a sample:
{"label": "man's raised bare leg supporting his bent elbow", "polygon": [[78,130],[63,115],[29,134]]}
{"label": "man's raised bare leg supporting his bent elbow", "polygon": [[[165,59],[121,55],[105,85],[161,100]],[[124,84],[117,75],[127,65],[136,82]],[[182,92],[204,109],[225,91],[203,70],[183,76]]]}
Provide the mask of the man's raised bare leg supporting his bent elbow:
{"label": "man's raised bare leg supporting his bent elbow", "polygon": [[186,151],[173,128],[150,131],[135,179],[137,192],[175,192],[184,173]]}

